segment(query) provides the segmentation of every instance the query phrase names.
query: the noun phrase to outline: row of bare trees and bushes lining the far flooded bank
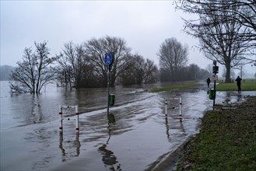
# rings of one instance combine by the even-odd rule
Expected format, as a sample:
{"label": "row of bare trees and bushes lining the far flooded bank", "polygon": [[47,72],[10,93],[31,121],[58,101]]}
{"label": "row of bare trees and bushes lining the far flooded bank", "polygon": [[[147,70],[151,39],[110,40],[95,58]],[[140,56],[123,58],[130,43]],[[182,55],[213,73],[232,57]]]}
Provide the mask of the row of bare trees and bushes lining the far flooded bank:
{"label": "row of bare trees and bushes lining the far flooded bank", "polygon": [[[82,44],[72,41],[64,44],[59,54],[51,57],[47,42],[25,47],[23,61],[18,61],[13,72],[5,73],[11,79],[12,92],[40,94],[40,89],[50,82],[75,89],[109,86],[131,86],[154,82],[198,80],[210,73],[196,64],[188,63],[188,45],[172,37],[160,45],[156,54],[160,68],[154,61],[132,53],[121,37],[92,38]],[[107,66],[107,53],[113,61]],[[109,77],[107,75],[110,75]]]}

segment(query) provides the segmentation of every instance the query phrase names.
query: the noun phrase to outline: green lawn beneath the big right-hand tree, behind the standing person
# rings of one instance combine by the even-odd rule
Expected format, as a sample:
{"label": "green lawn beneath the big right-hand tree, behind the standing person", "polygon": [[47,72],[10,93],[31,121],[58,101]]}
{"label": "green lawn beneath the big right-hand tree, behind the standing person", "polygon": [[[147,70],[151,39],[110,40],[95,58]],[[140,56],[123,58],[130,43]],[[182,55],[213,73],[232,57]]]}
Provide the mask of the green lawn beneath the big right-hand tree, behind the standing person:
{"label": "green lawn beneath the big right-hand tree, behind the standing person", "polygon": [[[256,91],[256,79],[244,79],[241,83],[242,91]],[[216,86],[217,91],[237,91],[237,82],[221,82]]]}

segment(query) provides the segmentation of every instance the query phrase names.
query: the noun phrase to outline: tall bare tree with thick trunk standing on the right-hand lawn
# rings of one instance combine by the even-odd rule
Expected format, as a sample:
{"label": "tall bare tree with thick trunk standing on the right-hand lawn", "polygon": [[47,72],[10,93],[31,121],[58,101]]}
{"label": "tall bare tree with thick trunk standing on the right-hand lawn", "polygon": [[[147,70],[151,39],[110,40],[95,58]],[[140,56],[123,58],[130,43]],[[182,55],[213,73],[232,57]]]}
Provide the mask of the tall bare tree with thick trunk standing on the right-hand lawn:
{"label": "tall bare tree with thick trunk standing on the right-hand lawn", "polygon": [[184,31],[199,39],[199,48],[206,58],[225,65],[226,82],[231,81],[230,68],[243,65],[247,60],[253,61],[247,57],[252,54],[251,47],[255,46],[251,39],[255,38],[255,30],[250,24],[245,26],[240,19],[242,14],[252,16],[255,23],[255,7],[252,10],[245,8],[245,3],[241,2],[188,0],[179,7],[198,14],[199,19],[184,19]]}

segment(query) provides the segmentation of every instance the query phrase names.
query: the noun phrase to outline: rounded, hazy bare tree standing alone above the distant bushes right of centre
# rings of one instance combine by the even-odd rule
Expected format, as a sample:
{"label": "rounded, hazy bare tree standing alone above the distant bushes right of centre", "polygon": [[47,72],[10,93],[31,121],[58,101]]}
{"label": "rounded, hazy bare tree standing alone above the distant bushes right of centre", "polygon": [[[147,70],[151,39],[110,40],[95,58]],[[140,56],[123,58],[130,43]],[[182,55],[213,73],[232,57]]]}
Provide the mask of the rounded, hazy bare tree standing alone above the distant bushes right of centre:
{"label": "rounded, hazy bare tree standing alone above the distant bushes right of centre", "polygon": [[166,39],[157,53],[160,68],[174,76],[188,62],[188,45],[182,45],[176,38]]}

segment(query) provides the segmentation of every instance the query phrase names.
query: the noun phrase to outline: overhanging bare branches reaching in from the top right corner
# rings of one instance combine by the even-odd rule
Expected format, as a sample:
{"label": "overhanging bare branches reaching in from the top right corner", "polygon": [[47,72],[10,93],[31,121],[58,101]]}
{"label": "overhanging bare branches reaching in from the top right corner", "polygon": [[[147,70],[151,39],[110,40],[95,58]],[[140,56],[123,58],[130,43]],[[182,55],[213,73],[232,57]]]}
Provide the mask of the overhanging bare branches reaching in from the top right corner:
{"label": "overhanging bare branches reaching in from the top right corner", "polygon": [[[239,36],[244,40],[251,40],[249,47],[255,47],[256,42],[256,0],[180,0],[176,1],[177,9],[181,9],[189,14],[198,16],[208,16],[209,12],[218,14],[219,23],[236,21],[247,28],[247,33],[241,33]],[[210,9],[205,10],[205,9]],[[226,13],[233,15],[226,16]],[[184,19],[188,23],[198,22],[198,19]],[[208,25],[214,26],[216,21],[212,20]],[[187,27],[187,26],[185,26]]]}

